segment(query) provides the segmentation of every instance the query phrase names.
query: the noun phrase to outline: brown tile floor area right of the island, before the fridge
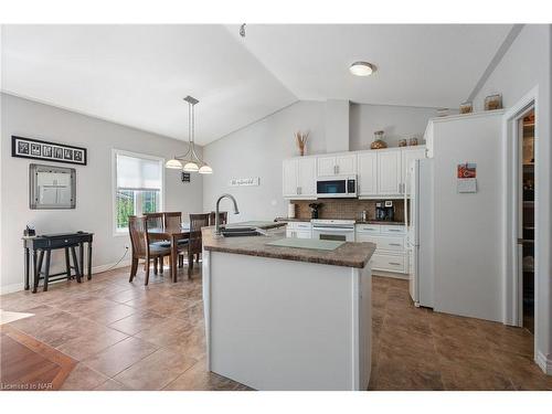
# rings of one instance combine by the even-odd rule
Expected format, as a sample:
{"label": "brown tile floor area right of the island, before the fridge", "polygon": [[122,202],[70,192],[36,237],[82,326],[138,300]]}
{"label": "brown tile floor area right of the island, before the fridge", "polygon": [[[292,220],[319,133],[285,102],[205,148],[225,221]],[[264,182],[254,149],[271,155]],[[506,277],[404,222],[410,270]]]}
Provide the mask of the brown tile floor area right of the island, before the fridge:
{"label": "brown tile floor area right of the island, before the fridge", "polygon": [[552,390],[527,330],[416,308],[406,280],[372,286],[369,390]]}

